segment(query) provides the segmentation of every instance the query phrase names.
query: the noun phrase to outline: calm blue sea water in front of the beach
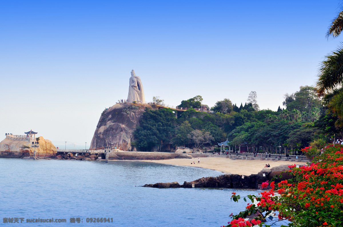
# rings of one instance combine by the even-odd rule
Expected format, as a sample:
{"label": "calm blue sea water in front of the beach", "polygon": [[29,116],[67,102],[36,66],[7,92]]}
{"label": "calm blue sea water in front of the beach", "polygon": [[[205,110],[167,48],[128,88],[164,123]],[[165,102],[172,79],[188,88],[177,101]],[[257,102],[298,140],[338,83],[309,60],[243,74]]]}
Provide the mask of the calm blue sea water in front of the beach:
{"label": "calm blue sea water in front of the beach", "polygon": [[[219,227],[231,220],[229,214],[245,210],[243,200],[230,201],[232,192],[258,191],[139,186],[220,175],[145,162],[0,158],[0,225]],[[19,223],[4,223],[7,218]],[[38,218],[66,222],[29,223]]]}

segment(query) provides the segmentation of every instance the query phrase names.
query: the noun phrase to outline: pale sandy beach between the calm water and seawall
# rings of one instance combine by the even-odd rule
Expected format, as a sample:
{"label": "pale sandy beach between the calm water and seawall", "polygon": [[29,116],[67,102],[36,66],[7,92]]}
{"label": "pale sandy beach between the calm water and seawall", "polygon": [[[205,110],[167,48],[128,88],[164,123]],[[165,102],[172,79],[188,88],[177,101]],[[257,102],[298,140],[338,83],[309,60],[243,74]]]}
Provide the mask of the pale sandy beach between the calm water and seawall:
{"label": "pale sandy beach between the calm water and seawall", "polygon": [[[191,166],[217,170],[228,174],[240,174],[250,175],[257,174],[265,164],[269,164],[270,167],[279,165],[291,165],[291,164],[306,164],[306,162],[289,162],[289,161],[261,161],[261,160],[232,160],[230,158],[222,157],[204,157],[200,158],[200,164],[198,164],[198,158],[192,159],[164,159],[164,160],[141,160],[140,162],[153,162],[169,165],[179,166]],[[191,164],[195,162],[195,164]]]}

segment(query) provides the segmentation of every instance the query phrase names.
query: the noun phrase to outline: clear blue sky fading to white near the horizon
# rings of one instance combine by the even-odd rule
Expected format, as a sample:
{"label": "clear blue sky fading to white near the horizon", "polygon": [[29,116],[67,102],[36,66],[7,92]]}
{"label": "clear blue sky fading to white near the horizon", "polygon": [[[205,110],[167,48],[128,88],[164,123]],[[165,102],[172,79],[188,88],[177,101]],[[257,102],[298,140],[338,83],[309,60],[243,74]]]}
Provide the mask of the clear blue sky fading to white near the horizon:
{"label": "clear blue sky fading to white near the horizon", "polygon": [[[90,144],[100,113],[126,99],[196,95],[262,109],[314,85],[340,1],[1,1],[0,131]],[[87,146],[88,147],[88,146]]]}

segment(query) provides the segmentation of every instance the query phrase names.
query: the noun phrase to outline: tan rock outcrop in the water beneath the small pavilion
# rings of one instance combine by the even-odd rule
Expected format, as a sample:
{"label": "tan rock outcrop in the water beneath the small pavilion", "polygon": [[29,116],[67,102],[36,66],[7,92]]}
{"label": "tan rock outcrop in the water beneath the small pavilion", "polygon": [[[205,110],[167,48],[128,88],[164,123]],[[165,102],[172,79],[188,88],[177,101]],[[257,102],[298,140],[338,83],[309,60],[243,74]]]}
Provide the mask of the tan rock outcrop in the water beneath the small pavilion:
{"label": "tan rock outcrop in the water beneath the small pavilion", "polygon": [[[32,156],[34,148],[31,147],[29,140],[12,140],[5,138],[0,142],[0,157],[2,158],[21,158]],[[54,156],[57,149],[50,140],[45,140],[39,136],[39,147],[36,150],[36,156],[48,157]]]}

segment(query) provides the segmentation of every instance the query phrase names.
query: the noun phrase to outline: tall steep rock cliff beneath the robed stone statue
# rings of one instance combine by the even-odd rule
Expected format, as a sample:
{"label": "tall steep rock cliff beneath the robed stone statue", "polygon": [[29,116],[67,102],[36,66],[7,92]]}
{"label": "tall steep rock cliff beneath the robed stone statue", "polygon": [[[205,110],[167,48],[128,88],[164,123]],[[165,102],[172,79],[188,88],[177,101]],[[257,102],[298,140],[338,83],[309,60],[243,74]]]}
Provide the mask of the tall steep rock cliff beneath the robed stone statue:
{"label": "tall steep rock cliff beneath the robed stone statue", "polygon": [[147,104],[118,103],[105,110],[96,126],[90,150],[113,143],[112,147],[132,151],[132,133],[139,124],[145,107],[151,108]]}

